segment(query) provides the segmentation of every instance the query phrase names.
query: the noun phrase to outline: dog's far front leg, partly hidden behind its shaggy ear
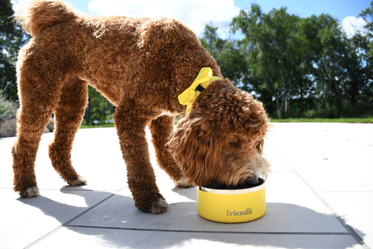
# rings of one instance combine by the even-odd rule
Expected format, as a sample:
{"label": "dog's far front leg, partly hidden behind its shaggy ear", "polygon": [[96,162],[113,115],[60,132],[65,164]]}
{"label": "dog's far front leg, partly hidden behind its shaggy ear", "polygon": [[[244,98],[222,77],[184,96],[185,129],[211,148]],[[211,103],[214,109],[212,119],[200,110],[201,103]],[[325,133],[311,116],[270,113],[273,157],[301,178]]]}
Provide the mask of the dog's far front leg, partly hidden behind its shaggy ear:
{"label": "dog's far front leg, partly hidden behind its shaggy ear", "polygon": [[151,142],[153,143],[158,165],[167,172],[178,187],[190,187],[183,179],[183,172],[176,164],[171,153],[167,151],[166,141],[173,131],[174,117],[160,116],[153,119],[150,124]]}

